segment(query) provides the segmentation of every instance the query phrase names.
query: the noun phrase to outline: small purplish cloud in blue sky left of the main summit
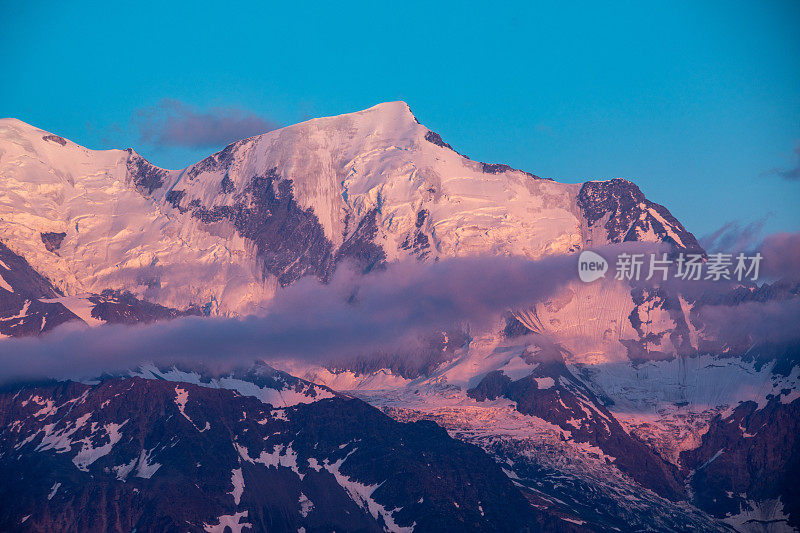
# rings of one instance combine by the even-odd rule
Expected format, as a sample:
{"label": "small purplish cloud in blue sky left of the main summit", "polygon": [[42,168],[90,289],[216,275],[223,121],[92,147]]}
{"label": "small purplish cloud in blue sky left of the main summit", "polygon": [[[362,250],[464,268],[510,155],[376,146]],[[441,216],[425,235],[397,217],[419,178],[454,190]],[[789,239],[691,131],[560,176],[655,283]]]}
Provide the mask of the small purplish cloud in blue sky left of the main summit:
{"label": "small purplish cloud in blue sky left of the main summit", "polygon": [[190,148],[224,146],[279,127],[276,122],[245,109],[218,107],[201,111],[169,98],[139,109],[131,121],[144,142]]}

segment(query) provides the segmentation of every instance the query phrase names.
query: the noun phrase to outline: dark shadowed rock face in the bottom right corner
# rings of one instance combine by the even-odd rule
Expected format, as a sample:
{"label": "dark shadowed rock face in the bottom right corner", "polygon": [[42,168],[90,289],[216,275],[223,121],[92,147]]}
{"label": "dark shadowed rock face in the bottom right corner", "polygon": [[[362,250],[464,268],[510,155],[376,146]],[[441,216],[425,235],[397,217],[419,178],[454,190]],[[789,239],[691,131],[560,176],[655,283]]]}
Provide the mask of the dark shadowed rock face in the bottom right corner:
{"label": "dark shadowed rock face in the bottom right corner", "polygon": [[789,393],[772,396],[762,409],[743,402],[717,416],[702,444],[681,453],[695,505],[724,518],[749,510],[748,500],[780,498],[788,525],[800,528],[800,399],[783,403]]}

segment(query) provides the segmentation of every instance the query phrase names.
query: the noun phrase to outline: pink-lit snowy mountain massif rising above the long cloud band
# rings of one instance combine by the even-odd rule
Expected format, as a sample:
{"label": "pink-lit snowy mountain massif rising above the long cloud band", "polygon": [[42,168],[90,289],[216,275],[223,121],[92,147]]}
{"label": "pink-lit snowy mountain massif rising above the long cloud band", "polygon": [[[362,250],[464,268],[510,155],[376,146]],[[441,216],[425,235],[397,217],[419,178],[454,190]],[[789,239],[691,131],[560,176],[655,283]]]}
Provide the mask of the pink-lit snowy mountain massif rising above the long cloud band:
{"label": "pink-lit snowy mountain massif rising above the long cloud band", "polygon": [[472,161],[403,102],[244,139],[180,171],[13,119],[0,121],[0,151],[3,241],[70,296],[126,290],[241,314],[348,259],[698,246],[628,181],[563,184]]}

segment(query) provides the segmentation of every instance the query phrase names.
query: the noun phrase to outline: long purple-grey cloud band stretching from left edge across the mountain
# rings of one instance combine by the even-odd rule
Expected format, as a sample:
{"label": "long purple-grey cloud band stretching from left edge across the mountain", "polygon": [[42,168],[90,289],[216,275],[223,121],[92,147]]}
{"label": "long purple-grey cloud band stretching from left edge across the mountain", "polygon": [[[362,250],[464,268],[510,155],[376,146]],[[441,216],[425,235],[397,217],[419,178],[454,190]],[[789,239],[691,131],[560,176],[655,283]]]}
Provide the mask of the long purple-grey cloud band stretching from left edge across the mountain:
{"label": "long purple-grey cloud band stretching from left edge across the mountain", "polygon": [[304,278],[281,291],[264,316],[67,325],[39,338],[3,339],[0,382],[96,376],[144,361],[224,371],[257,359],[411,356],[425,335],[464,323],[487,328],[506,309],[553,294],[576,271],[575,256],[401,262],[367,276],[340,269],[328,285]]}

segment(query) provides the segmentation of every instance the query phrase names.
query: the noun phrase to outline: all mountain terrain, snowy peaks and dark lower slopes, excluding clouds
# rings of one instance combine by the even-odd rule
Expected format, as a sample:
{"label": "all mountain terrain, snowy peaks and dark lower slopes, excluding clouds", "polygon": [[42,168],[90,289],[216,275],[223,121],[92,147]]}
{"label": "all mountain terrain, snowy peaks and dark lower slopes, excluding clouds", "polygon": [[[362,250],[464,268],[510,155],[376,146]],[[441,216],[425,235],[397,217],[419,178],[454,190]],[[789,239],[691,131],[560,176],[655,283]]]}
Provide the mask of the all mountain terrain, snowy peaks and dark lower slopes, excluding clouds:
{"label": "all mountain terrain, snowy peaks and dark lower slopes, excluding clouds", "polygon": [[[179,171],[3,119],[0,179],[7,337],[263,313],[344,264],[370,276],[631,242],[704,253],[633,183],[473,161],[402,102],[244,139]],[[791,283],[726,291],[727,306],[800,297]],[[576,275],[489,328],[438,332],[422,355],[8,384],[0,524],[794,530],[797,343],[726,343],[703,303]]]}

